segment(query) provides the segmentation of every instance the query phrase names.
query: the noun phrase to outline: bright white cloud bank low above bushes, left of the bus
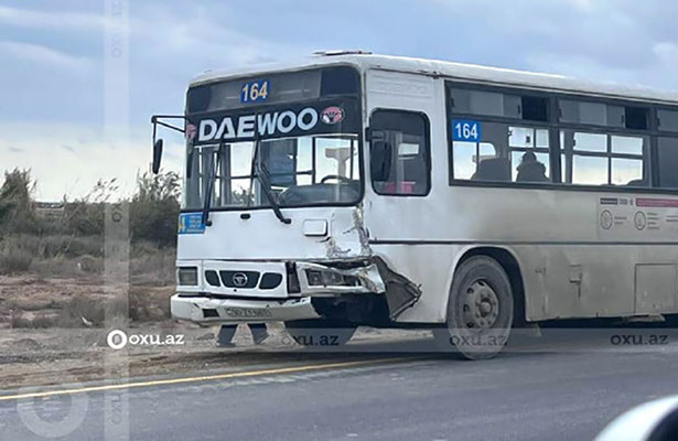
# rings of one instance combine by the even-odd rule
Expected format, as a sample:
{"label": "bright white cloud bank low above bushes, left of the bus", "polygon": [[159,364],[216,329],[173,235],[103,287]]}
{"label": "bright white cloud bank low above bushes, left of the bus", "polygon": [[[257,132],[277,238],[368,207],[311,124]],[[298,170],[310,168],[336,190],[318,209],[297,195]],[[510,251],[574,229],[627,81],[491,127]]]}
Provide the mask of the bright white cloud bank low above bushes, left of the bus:
{"label": "bright white cloud bank low above bushes, left of the bus", "polygon": [[[30,169],[40,201],[60,201],[64,195],[71,200],[82,197],[98,180],[114,178],[120,184],[118,196],[129,196],[137,174],[149,170],[151,161],[150,135],[144,130],[132,131],[129,139],[105,140],[100,130],[87,126],[25,121],[0,123],[0,164],[6,169]],[[163,170],[180,171],[181,138],[166,141]]]}

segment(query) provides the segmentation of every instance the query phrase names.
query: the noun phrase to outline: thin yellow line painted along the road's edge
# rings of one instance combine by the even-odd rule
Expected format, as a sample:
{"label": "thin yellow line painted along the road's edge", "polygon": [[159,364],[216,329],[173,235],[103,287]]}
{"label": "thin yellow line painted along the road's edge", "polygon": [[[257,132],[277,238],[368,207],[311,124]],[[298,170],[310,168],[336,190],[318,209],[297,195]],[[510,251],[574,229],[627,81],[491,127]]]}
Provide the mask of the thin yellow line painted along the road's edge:
{"label": "thin yellow line painted along the road's edge", "polygon": [[185,384],[185,383],[209,381],[209,380],[217,380],[217,379],[232,379],[232,378],[258,377],[258,376],[265,376],[265,375],[292,374],[292,373],[302,373],[302,372],[309,372],[309,370],[331,369],[331,368],[341,368],[341,367],[356,367],[356,366],[364,366],[364,365],[370,365],[370,364],[378,365],[378,364],[398,363],[398,362],[405,362],[405,361],[411,361],[411,358],[401,357],[401,358],[380,358],[380,359],[370,359],[370,361],[362,361],[362,362],[326,363],[322,365],[305,365],[305,366],[281,367],[277,369],[236,372],[236,373],[228,373],[228,374],[203,375],[198,377],[157,379],[157,380],[138,381],[138,383],[121,383],[121,384],[115,384],[115,385],[82,387],[77,389],[62,389],[62,390],[49,390],[49,391],[42,391],[42,392],[7,395],[7,396],[0,396],[0,401],[19,400],[19,399],[25,399],[25,398],[45,398],[45,397],[54,397],[54,396],[60,396],[60,395],[86,394],[86,392],[103,391],[103,390],[131,389],[136,387],[177,385],[177,384]]}

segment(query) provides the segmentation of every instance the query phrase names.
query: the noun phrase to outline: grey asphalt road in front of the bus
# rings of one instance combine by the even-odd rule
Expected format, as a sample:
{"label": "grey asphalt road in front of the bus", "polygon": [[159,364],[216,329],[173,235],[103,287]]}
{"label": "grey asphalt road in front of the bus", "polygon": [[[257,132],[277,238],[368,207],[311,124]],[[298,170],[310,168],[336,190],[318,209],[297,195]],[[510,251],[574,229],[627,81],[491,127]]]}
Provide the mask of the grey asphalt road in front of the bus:
{"label": "grey asphalt road in front of the bus", "polygon": [[629,407],[678,392],[678,343],[509,352],[485,362],[333,357],[308,354],[302,364],[207,378],[130,379],[132,387],[114,390],[6,396],[0,438],[591,440]]}

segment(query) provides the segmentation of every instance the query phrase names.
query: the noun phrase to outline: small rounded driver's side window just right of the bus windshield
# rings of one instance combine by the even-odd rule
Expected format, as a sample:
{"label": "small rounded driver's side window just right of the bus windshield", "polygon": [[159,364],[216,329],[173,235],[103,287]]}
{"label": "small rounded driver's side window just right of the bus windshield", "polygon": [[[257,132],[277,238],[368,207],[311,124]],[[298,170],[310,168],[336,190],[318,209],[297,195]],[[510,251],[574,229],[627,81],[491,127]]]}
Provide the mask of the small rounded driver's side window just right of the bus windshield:
{"label": "small rounded driver's side window just right of the bus windshield", "polygon": [[423,196],[429,193],[429,121],[423,114],[377,110],[370,120],[372,185],[377,194]]}

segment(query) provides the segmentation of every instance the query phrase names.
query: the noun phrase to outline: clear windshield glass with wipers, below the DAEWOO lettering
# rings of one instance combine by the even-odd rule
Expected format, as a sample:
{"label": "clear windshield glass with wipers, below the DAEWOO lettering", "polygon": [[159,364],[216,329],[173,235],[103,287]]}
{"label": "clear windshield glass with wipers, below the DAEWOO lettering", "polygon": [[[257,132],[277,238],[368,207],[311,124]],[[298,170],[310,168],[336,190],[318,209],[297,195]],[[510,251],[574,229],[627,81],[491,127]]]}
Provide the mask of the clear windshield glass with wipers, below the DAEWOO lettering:
{"label": "clear windshield glass with wipers, below the DAEWOO lettering", "polygon": [[[202,209],[212,186],[212,208],[281,207],[357,203],[360,166],[356,133],[327,133],[191,147],[184,208]],[[266,184],[256,179],[267,174]],[[209,181],[214,182],[209,185]]]}

